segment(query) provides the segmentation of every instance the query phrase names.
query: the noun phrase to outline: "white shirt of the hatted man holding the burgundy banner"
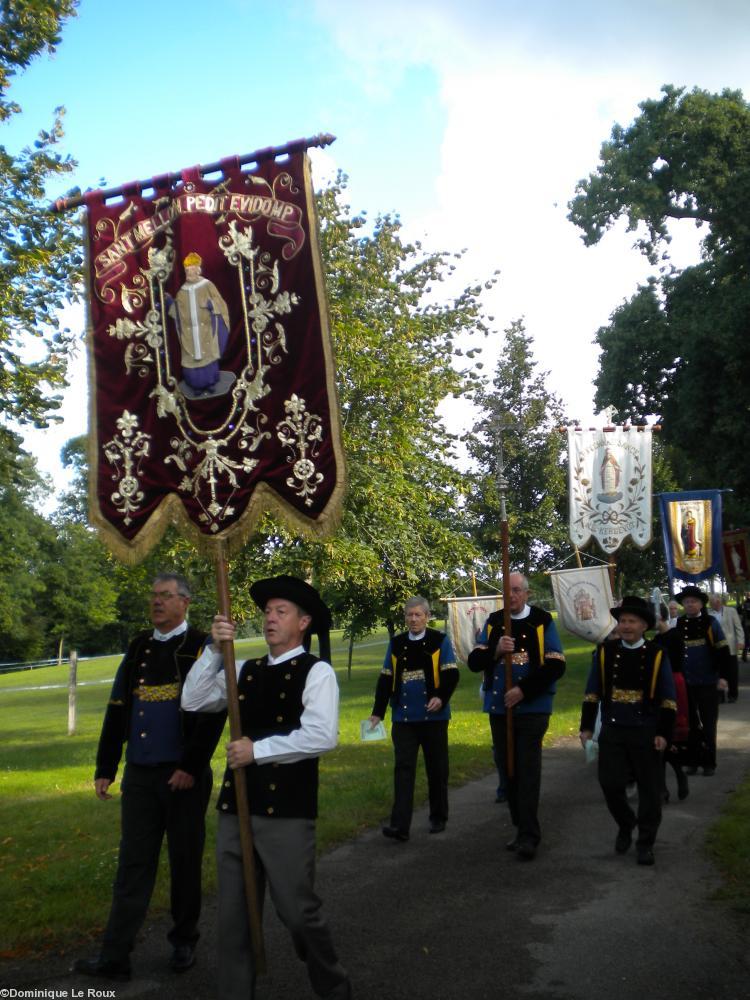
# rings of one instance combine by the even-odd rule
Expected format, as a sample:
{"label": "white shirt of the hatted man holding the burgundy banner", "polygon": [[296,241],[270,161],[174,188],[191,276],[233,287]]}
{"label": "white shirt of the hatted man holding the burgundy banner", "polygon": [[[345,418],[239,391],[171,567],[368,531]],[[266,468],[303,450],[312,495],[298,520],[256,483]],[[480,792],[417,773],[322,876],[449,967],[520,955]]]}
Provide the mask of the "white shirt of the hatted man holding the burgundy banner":
{"label": "white shirt of the hatted man holding the burgundy banner", "polygon": [[[304,646],[268,655],[268,665],[285,663],[295,656],[304,656]],[[236,662],[239,677],[242,663]],[[182,687],[182,707],[187,712],[220,712],[227,704],[227,682],[224,660],[213,645],[206,646],[185,678]],[[302,716],[299,729],[286,735],[267,736],[253,742],[253,754],[258,764],[293,764],[305,757],[317,757],[333,750],[338,742],[339,686],[333,667],[319,660],[310,668],[302,692]]]}

